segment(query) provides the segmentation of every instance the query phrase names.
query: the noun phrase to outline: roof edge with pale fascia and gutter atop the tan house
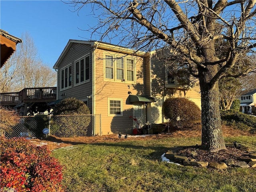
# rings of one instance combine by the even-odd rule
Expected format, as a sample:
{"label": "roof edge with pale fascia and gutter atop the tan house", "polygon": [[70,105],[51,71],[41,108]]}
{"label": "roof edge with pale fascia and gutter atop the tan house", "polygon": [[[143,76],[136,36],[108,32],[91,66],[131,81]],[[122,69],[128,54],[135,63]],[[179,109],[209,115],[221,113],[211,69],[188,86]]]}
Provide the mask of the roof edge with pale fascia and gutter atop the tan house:
{"label": "roof edge with pale fascia and gutter atop the tan house", "polygon": [[126,48],[126,47],[123,47],[123,46],[117,46],[117,45],[114,45],[114,44],[95,41],[95,40],[84,41],[84,40],[72,40],[72,39],[70,39],[68,41],[66,47],[64,48],[64,50],[60,54],[60,57],[58,58],[57,62],[54,64],[54,66],[53,66],[54,69],[58,69],[58,66],[61,63],[63,57],[72,48],[73,43],[89,44],[89,45],[91,45],[92,47],[95,47],[95,48],[101,48],[101,49],[104,49],[104,50],[110,50],[110,51],[113,51],[113,52],[124,53],[124,54],[132,54],[132,55],[136,55],[136,56],[144,56],[146,54],[146,52],[136,51],[136,50],[132,50],[132,49],[129,49],[129,48]]}

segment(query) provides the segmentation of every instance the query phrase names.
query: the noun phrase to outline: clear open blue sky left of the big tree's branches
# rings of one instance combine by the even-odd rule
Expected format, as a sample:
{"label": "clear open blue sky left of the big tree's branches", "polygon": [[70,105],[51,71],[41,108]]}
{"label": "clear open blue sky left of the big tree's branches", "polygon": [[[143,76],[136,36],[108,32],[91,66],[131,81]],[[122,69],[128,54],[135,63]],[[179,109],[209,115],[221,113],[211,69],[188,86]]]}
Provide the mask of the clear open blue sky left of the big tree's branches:
{"label": "clear open blue sky left of the big tree's branches", "polygon": [[60,0],[0,0],[0,28],[18,38],[28,32],[40,58],[52,68],[69,39],[90,39],[89,32],[78,28],[97,22],[87,8],[79,16],[70,10],[74,8]]}

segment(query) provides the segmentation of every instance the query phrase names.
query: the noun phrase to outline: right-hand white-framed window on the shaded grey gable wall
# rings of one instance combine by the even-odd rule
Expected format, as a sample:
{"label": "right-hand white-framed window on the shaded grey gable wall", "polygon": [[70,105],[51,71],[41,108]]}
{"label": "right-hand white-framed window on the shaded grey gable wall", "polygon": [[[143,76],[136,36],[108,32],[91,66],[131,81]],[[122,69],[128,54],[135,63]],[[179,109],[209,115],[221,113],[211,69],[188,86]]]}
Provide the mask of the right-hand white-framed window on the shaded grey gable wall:
{"label": "right-hand white-framed window on the shaded grey gable wall", "polygon": [[87,82],[90,79],[90,57],[84,56],[75,61],[76,85]]}

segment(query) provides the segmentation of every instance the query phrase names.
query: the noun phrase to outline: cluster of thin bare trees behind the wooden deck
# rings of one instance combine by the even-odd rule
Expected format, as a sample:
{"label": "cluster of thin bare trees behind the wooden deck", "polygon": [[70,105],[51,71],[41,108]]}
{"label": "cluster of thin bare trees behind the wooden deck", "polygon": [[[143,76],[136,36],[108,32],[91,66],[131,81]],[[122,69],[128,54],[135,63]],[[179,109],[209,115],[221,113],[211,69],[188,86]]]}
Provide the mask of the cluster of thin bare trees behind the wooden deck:
{"label": "cluster of thin bare trees behind the wooden deck", "polygon": [[33,39],[28,33],[21,38],[23,43],[1,68],[1,92],[56,85],[56,72],[39,58]]}

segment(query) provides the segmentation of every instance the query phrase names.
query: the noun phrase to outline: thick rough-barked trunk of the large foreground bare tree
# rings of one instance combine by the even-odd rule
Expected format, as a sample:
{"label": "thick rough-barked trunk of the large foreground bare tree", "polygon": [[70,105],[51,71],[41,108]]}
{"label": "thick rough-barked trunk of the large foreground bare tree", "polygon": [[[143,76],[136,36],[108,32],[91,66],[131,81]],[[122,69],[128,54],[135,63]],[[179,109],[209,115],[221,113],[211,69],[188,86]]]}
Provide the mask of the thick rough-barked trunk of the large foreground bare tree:
{"label": "thick rough-barked trunk of the large foreground bare tree", "polygon": [[[214,62],[214,42],[208,42],[201,47],[205,62]],[[218,72],[218,66],[208,65],[198,67],[202,105],[202,148],[211,152],[226,149],[221,130],[220,93],[218,82],[211,84],[212,78]]]}

